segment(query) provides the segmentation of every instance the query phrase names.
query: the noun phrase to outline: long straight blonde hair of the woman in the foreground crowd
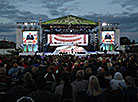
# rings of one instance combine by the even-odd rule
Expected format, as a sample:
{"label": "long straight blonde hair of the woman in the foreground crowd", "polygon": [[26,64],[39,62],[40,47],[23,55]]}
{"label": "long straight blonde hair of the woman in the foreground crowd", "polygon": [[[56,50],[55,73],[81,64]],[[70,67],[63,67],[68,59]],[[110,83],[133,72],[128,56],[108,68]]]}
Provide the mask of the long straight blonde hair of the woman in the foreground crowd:
{"label": "long straight blonde hair of the woman in the foreground crowd", "polygon": [[99,80],[94,75],[92,75],[89,78],[89,85],[88,85],[88,91],[87,92],[93,96],[98,96],[99,94],[102,93],[102,89],[100,87]]}

